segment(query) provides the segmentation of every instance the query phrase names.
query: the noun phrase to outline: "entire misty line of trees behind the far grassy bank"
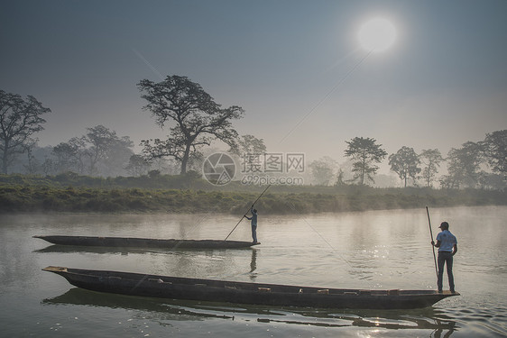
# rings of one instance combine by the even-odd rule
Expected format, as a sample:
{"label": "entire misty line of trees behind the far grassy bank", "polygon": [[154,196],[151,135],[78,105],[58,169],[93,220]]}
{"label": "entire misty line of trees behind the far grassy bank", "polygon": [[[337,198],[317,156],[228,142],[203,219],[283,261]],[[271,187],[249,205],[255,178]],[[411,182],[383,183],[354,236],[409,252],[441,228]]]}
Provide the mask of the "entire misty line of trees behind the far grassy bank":
{"label": "entire misty line of trees behind the far grassy bank", "polygon": [[[200,168],[205,151],[212,142],[223,142],[229,151],[263,153],[262,139],[253,135],[240,136],[233,121],[244,115],[240,106],[222,107],[196,82],[186,77],[168,76],[155,83],[143,79],[137,84],[146,105],[143,110],[152,114],[155,123],[168,130],[165,140],[143,140],[143,151],[135,154],[134,142],[128,136],[118,136],[103,125],[60,142],[54,147],[37,146],[34,135],[43,130],[44,107],[33,96],[0,90],[0,156],[3,173],[59,174],[72,171],[90,176],[141,176],[150,172],[185,174]],[[345,156],[350,168],[336,172],[335,184],[368,185],[374,183],[380,164],[388,153],[382,144],[369,137],[355,137],[346,141]],[[507,166],[507,130],[487,133],[484,141],[466,142],[453,148],[444,158],[438,149],[417,154],[403,146],[389,155],[389,165],[404,183],[416,185],[423,180],[432,187],[442,162],[447,161],[447,175],[438,178],[440,187],[505,187]],[[25,155],[24,160],[20,160]],[[345,168],[345,166],[342,166]],[[329,185],[336,165],[330,158],[316,160],[309,168],[314,182]],[[348,178],[346,176],[349,176]]]}

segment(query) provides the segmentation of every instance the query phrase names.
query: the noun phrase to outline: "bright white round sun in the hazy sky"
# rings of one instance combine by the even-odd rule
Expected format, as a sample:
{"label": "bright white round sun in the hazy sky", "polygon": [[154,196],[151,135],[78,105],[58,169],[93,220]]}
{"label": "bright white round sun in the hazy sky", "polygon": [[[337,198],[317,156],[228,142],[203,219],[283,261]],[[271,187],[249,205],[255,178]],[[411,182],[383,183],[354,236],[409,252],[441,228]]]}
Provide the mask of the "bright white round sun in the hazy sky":
{"label": "bright white round sun in the hazy sky", "polygon": [[396,40],[396,29],[388,20],[374,18],[361,26],[358,38],[364,50],[380,52],[392,46]]}

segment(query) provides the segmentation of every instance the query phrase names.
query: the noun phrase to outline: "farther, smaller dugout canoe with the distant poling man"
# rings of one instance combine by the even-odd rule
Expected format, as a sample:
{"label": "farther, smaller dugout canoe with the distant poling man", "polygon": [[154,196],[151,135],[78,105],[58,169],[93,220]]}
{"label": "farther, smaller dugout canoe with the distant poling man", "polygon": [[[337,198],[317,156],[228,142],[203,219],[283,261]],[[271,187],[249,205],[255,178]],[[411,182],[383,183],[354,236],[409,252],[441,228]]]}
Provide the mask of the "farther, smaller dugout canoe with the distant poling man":
{"label": "farther, smaller dugout canoe with the distant poling man", "polygon": [[221,240],[159,240],[134,237],[94,237],[48,235],[33,236],[58,245],[101,246],[115,248],[157,248],[157,249],[241,249],[258,245],[260,242]]}

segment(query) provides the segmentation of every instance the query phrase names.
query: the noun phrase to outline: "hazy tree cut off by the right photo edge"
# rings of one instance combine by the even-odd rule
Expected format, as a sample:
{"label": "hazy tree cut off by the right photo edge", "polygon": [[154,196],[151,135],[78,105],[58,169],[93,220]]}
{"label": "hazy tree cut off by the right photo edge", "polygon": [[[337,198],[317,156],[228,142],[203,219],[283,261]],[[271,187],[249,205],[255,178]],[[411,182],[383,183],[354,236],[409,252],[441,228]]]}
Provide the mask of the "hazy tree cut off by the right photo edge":
{"label": "hazy tree cut off by the right photo edge", "polygon": [[487,133],[484,152],[492,171],[507,178],[507,129]]}

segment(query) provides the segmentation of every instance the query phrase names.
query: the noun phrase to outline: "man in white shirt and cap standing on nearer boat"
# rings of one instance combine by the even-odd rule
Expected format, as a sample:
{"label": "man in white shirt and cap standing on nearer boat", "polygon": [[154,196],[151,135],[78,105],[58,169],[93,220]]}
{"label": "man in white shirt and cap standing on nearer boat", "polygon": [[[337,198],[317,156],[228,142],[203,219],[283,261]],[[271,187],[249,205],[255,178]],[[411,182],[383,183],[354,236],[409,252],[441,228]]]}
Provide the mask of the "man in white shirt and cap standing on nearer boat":
{"label": "man in white shirt and cap standing on nearer boat", "polygon": [[438,226],[442,231],[437,235],[437,243],[431,241],[431,244],[438,248],[438,292],[442,292],[442,279],[444,277],[444,264],[447,265],[447,279],[449,279],[449,288],[455,293],[453,276],[453,256],[457,252],[456,236],[449,232],[449,224],[442,222]]}

